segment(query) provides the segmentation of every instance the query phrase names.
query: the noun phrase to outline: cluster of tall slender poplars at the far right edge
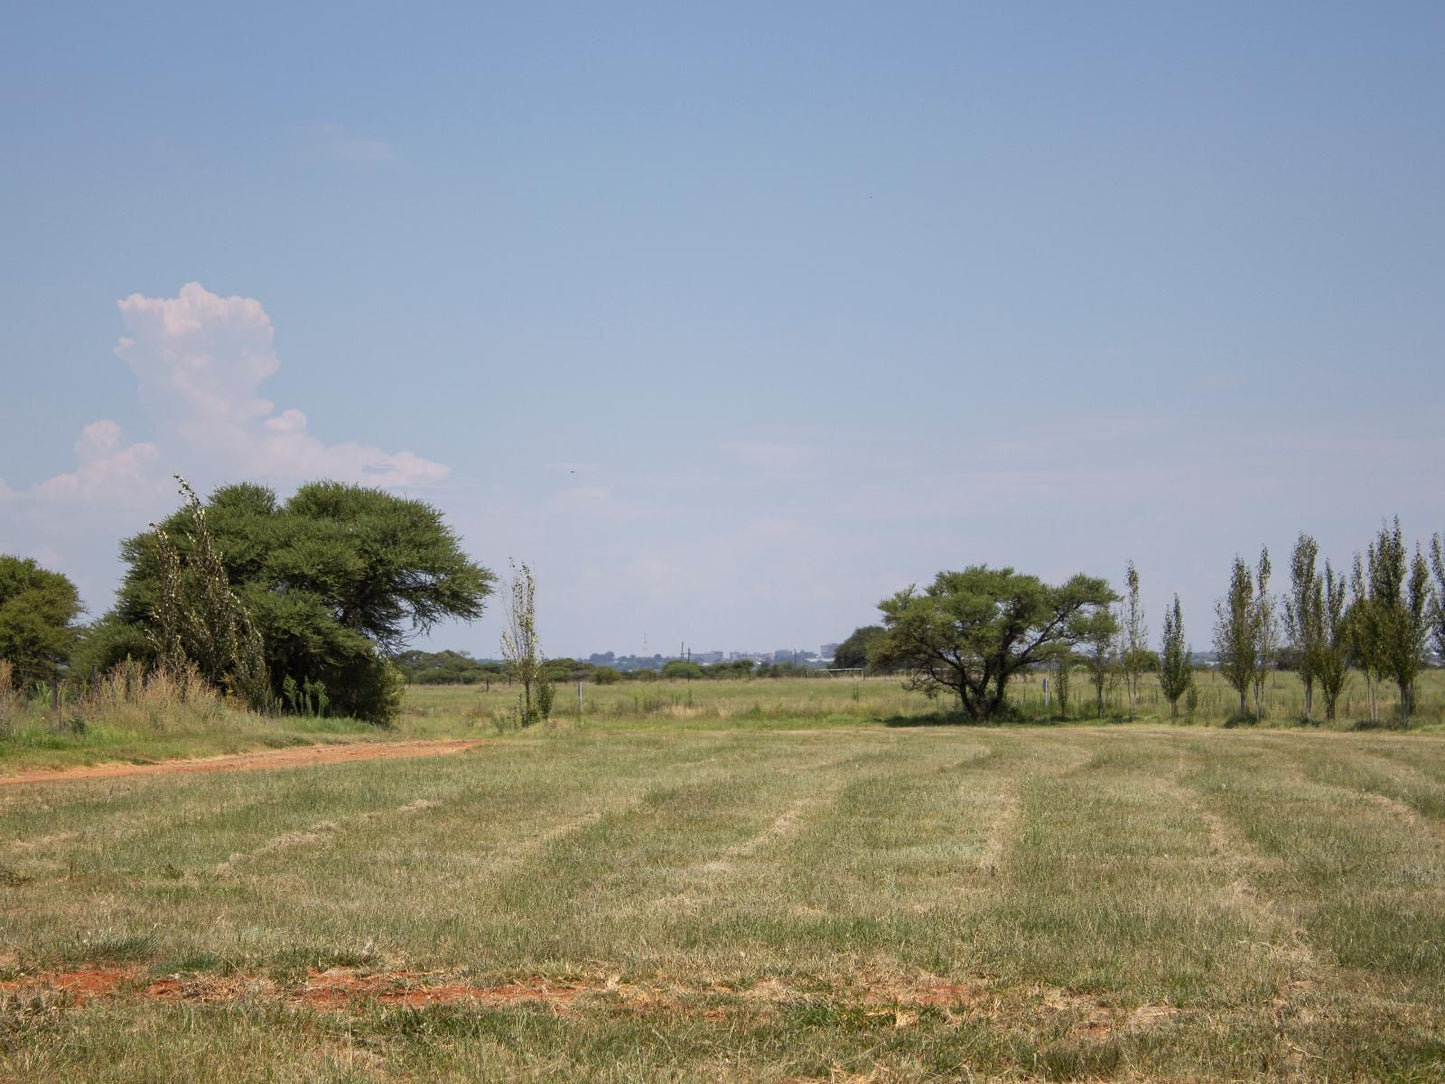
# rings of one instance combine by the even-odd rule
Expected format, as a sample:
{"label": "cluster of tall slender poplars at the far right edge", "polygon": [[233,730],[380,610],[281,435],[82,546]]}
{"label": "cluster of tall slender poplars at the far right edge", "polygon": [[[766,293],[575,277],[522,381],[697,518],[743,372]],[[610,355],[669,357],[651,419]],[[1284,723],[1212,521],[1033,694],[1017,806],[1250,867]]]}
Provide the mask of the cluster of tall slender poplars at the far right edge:
{"label": "cluster of tall slender poplars at the far right edge", "polygon": [[[1270,591],[1269,549],[1251,569],[1234,558],[1228,594],[1215,603],[1214,648],[1220,674],[1240,694],[1240,715],[1266,714],[1266,675],[1283,655],[1305,687],[1305,718],[1314,718],[1315,692],[1327,720],[1335,717],[1350,671],[1364,676],[1370,720],[1380,718],[1380,684],[1400,689],[1400,726],[1410,721],[1415,679],[1425,669],[1431,640],[1445,653],[1445,546],[1431,539],[1429,559],[1405,545],[1400,520],[1355,554],[1348,577],[1329,561],[1319,568],[1319,545],[1300,535],[1290,556],[1289,591]],[[1433,582],[1432,582],[1433,572]],[[1280,603],[1283,603],[1280,606]]]}

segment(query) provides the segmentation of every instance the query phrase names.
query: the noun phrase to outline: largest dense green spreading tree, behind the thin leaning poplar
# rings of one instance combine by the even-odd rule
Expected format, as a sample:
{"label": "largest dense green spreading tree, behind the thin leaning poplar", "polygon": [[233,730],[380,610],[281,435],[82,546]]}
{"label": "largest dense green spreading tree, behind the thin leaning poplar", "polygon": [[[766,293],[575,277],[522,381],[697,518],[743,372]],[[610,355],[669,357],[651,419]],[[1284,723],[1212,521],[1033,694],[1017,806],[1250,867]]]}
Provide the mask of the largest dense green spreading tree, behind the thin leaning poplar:
{"label": "largest dense green spreading tree, behind the thin leaning poplar", "polygon": [[[334,711],[384,723],[402,684],[392,656],[441,620],[480,617],[491,591],[491,572],[419,500],[315,481],[277,502],[263,486],[236,484],[204,512],[231,591],[260,632],[276,697],[288,679],[321,682]],[[185,507],[121,543],[129,568],[97,632],[98,663],[153,653],[146,633],[165,611],[166,548],[188,559],[195,522]]]}

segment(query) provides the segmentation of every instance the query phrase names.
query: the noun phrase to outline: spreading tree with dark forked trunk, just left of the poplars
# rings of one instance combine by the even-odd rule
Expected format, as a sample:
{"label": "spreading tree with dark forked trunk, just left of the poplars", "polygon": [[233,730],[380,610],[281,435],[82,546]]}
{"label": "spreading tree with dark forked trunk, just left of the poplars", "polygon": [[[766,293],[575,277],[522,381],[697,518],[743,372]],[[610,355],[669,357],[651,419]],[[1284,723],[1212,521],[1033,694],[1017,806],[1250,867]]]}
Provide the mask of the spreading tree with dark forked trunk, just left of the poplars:
{"label": "spreading tree with dark forked trunk, just left of the poplars", "polygon": [[1104,580],[1087,575],[1052,587],[1012,568],[939,572],[922,591],[879,603],[883,635],[868,658],[907,671],[918,688],[952,692],[968,718],[988,720],[1004,710],[1014,674],[1078,643],[1114,601]]}

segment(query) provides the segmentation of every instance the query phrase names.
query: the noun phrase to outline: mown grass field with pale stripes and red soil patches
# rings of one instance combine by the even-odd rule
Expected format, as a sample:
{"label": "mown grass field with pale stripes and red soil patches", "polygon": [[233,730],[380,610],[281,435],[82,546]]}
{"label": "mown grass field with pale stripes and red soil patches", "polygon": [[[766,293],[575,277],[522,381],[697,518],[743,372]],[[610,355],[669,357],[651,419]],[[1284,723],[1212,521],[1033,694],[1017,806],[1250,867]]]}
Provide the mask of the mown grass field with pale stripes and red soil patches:
{"label": "mown grass field with pale stripes and red soil patches", "polygon": [[1445,1080],[1438,733],[751,685],[0,788],[0,1078]]}

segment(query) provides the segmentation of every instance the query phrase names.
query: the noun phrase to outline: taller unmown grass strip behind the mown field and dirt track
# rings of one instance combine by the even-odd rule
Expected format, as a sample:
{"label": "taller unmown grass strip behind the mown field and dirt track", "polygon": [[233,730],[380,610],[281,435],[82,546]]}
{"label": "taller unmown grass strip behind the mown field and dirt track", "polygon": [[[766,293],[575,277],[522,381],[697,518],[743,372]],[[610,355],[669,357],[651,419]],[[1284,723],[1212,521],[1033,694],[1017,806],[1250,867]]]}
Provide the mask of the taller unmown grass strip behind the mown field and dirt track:
{"label": "taller unmown grass strip behind the mown field and dirt track", "polygon": [[[1111,688],[1098,717],[1094,689],[1082,672],[1074,675],[1068,715],[1061,717],[1056,689],[1046,697],[1045,676],[1022,675],[1010,684],[1010,705],[1022,721],[1110,724],[1127,718],[1120,689]],[[1194,713],[1181,707],[1170,720],[1169,705],[1152,678],[1144,679],[1136,721],[1212,727],[1224,724],[1238,698],[1214,672],[1196,675]],[[111,682],[113,685],[114,682]],[[150,763],[169,757],[198,757],[311,743],[464,739],[516,730],[517,689],[506,682],[481,685],[410,687],[403,713],[392,728],[379,730],[347,718],[260,717],[223,704],[214,694],[173,682],[158,682],[136,698],[110,694],[98,702],[64,701],[51,711],[42,701],[20,705],[0,700],[0,776],[26,769],[64,767],[105,760]],[[1315,726],[1327,730],[1392,727],[1397,694],[1386,684],[1379,695],[1379,723],[1371,723],[1364,682],[1354,676],[1341,700],[1340,717]],[[945,698],[929,700],[907,691],[897,678],[792,678],[756,681],[629,681],[584,685],[581,721],[604,727],[740,727],[772,726],[907,726],[923,717],[944,717]],[[578,721],[575,685],[558,687],[555,726]],[[1267,714],[1260,726],[1296,727],[1303,694],[1293,674],[1272,674]],[[938,721],[946,721],[939,718]],[[1445,734],[1445,671],[1426,671],[1416,688],[1412,730]]]}

